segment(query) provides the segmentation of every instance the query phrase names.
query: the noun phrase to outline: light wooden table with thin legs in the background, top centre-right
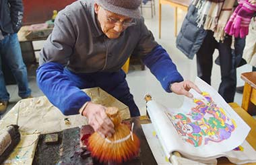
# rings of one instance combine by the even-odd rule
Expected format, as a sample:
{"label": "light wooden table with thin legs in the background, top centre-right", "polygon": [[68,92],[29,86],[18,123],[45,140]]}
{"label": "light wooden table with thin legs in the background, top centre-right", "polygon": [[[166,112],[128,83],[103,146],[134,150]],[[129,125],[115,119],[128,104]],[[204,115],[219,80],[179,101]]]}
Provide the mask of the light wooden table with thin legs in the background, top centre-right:
{"label": "light wooden table with thin legs in the background, top centre-right", "polygon": [[191,0],[159,0],[159,38],[161,38],[162,5],[174,7],[174,36],[177,36],[178,8],[187,11]]}

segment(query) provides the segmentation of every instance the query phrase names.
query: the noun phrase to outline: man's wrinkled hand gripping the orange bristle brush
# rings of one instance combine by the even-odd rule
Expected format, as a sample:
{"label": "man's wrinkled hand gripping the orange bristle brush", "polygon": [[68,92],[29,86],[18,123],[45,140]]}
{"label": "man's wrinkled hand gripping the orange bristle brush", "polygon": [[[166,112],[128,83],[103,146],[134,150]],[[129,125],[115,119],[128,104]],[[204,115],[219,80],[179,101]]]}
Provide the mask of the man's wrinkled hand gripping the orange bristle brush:
{"label": "man's wrinkled hand gripping the orange bristle brush", "polygon": [[88,118],[89,125],[94,128],[94,131],[98,132],[102,137],[111,137],[114,130],[113,122],[106,115],[106,107],[100,104],[94,104],[88,102],[83,116]]}

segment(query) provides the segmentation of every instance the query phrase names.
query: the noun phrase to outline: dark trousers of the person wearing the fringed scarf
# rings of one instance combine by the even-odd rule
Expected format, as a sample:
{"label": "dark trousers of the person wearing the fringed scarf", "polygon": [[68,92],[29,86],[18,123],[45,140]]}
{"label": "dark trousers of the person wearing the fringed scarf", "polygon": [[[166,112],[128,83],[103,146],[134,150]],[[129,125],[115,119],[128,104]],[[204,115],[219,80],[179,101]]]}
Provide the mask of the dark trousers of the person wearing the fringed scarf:
{"label": "dark trousers of the person wearing the fringed scarf", "polygon": [[203,44],[197,52],[197,75],[211,85],[213,54],[217,48],[220,55],[221,83],[219,94],[226,102],[234,102],[236,91],[236,67],[232,59],[232,38],[227,36],[224,42],[217,42],[212,31],[207,32]]}

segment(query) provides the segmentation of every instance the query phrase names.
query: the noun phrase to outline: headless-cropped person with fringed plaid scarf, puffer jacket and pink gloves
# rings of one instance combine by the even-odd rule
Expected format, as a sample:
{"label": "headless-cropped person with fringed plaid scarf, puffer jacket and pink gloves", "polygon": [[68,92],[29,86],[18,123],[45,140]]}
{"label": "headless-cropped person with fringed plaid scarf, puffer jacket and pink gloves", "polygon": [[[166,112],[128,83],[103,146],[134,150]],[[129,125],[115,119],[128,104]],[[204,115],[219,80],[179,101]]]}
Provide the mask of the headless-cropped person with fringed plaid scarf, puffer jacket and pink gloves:
{"label": "headless-cropped person with fringed plaid scarf, puffer jacket and pink gloves", "polygon": [[[177,48],[179,48],[189,59],[197,55],[197,75],[211,84],[213,54],[218,49],[220,55],[221,83],[218,93],[226,102],[234,101],[236,91],[236,63],[232,55],[232,35],[225,36],[225,27],[229,23],[234,34],[233,51],[240,56],[243,55],[245,47],[245,36],[247,35],[245,25],[235,28],[230,22],[232,17],[232,8],[237,3],[234,0],[195,0],[189,7],[189,11],[181,27],[181,32],[177,37]],[[242,22],[246,7],[244,3],[250,3],[248,0],[238,1],[234,10],[238,16],[241,16]],[[233,13],[233,14],[234,14]],[[232,16],[231,16],[232,15]],[[231,16],[231,17],[230,17]],[[251,16],[249,14],[248,16]],[[245,24],[243,22],[243,24]],[[232,32],[234,32],[232,31]]]}

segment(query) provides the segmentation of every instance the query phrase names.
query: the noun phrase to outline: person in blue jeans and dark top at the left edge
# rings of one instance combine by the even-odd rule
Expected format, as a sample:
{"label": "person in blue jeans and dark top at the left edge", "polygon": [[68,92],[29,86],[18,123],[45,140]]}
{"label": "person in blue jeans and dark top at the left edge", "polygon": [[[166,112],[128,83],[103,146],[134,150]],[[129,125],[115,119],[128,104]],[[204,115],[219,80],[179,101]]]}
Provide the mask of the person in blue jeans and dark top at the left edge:
{"label": "person in blue jeans and dark top at the left edge", "polygon": [[30,98],[28,73],[22,59],[22,51],[17,32],[22,26],[22,0],[0,1],[0,115],[5,113],[9,102],[9,93],[5,86],[2,65],[8,65],[18,84],[21,98]]}

